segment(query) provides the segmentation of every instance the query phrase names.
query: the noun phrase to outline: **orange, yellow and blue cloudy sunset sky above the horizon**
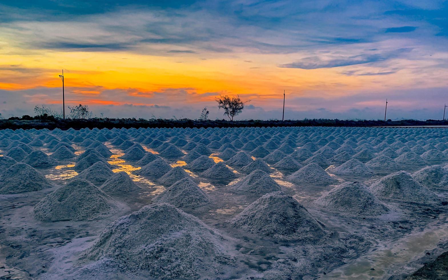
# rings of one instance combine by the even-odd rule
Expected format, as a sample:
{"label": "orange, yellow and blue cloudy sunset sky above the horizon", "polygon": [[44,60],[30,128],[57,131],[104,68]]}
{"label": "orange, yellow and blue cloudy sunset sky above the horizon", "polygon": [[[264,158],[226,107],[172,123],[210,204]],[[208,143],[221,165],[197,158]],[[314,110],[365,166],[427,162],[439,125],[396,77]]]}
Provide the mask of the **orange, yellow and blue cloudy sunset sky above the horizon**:
{"label": "orange, yellow and blue cloudy sunset sky above the horizon", "polygon": [[[88,104],[95,115],[440,119],[448,103],[446,1],[0,3],[0,113]],[[30,4],[31,3],[31,4]],[[440,116],[439,116],[440,115]]]}

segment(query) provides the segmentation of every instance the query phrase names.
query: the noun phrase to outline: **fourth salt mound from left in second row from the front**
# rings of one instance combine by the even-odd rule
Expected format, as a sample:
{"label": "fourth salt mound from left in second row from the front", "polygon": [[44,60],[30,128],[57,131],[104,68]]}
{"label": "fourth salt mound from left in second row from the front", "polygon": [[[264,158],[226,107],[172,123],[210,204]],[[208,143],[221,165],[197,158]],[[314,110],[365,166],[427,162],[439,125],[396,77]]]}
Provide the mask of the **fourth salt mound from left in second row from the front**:
{"label": "fourth salt mound from left in second row from the front", "polygon": [[297,184],[330,185],[336,183],[318,164],[308,164],[289,175],[288,180]]}

